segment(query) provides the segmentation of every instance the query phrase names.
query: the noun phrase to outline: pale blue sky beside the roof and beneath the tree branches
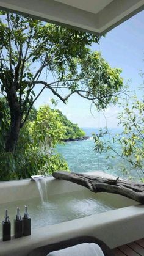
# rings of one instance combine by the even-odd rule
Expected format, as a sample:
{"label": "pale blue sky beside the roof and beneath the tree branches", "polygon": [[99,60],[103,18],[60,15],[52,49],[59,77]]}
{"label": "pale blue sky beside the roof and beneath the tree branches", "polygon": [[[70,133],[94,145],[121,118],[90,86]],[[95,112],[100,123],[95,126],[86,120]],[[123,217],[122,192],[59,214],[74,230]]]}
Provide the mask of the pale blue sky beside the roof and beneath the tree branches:
{"label": "pale blue sky beside the roof and beneath the tree branches", "polygon": [[[108,32],[105,37],[101,37],[100,45],[93,44],[93,51],[101,51],[102,57],[114,68],[121,68],[123,71],[121,76],[124,83],[129,84],[131,92],[134,90],[139,94],[138,87],[142,84],[140,78],[140,70],[144,72],[144,10],[129,20]],[[38,100],[35,107],[38,109],[43,104],[51,105],[52,94],[45,90]],[[90,101],[72,95],[67,105],[58,101],[57,109],[62,111],[73,123],[77,123],[79,127],[117,127],[118,112],[121,108],[116,106],[108,106],[104,115],[100,114],[98,122],[98,111],[92,109],[90,111]]]}

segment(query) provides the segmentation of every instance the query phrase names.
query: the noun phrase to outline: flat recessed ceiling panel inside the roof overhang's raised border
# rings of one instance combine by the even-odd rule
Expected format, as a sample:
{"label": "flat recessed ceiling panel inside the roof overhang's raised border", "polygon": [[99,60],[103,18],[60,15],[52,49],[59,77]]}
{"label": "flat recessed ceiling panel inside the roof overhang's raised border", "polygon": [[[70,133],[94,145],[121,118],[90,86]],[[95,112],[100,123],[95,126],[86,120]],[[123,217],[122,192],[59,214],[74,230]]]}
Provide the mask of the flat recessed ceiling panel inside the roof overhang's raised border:
{"label": "flat recessed ceiling panel inside the roof overhang's raised border", "polygon": [[87,12],[98,13],[100,10],[103,10],[110,2],[113,0],[55,0],[56,2],[62,2],[73,7],[76,7]]}

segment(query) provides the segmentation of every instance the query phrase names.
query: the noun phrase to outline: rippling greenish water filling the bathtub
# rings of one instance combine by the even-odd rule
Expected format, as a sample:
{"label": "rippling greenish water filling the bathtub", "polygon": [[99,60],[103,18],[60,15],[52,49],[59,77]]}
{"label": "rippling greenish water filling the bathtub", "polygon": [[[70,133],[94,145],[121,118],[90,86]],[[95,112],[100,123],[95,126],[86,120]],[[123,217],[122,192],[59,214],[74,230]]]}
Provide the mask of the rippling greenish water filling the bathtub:
{"label": "rippling greenish water filling the bathtub", "polygon": [[103,213],[115,209],[112,204],[104,199],[97,199],[96,194],[87,191],[71,192],[49,196],[48,201],[41,202],[40,198],[20,200],[0,204],[0,221],[4,219],[4,209],[9,210],[9,218],[12,225],[16,214],[16,207],[20,207],[20,214],[24,214],[24,205],[27,205],[31,217],[32,229],[45,227],[45,225],[57,224],[72,219],[84,218],[96,213]]}

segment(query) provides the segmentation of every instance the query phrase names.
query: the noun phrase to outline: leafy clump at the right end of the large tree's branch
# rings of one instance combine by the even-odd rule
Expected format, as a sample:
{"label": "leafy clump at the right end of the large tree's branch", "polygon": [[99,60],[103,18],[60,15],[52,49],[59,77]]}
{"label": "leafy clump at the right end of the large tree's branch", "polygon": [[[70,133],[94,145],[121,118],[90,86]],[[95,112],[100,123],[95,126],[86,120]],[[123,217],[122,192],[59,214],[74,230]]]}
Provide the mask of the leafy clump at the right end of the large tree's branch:
{"label": "leafy clump at the right end of the large tree's branch", "polygon": [[[118,91],[123,87],[120,68],[111,68],[101,53],[90,52],[79,60],[83,80],[83,90],[78,92],[84,98],[92,100],[98,109],[105,109],[109,103],[117,103]],[[85,93],[85,95],[84,95]]]}

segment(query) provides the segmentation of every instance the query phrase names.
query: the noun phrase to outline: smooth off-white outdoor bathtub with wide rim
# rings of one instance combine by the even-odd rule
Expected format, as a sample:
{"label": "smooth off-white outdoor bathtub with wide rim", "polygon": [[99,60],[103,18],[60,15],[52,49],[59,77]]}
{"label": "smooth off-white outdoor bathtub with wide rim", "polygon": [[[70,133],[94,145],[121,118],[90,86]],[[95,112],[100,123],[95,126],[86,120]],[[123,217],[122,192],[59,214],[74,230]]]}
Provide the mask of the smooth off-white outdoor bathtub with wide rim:
{"label": "smooth off-white outdoor bathtub with wide rim", "polygon": [[[41,228],[32,229],[31,236],[0,242],[0,255],[26,256],[32,249],[45,246],[46,244],[68,240],[77,236],[95,236],[103,240],[110,248],[130,243],[143,237],[144,206],[139,205],[126,197],[99,193],[94,194],[87,188],[70,183],[68,181],[56,180],[53,177],[46,178],[48,196],[52,198],[67,196],[72,193],[78,195],[95,196],[98,200],[105,200],[115,210],[104,213],[92,214],[84,218],[60,222]],[[9,203],[29,202],[40,197],[35,181],[20,180],[0,183],[0,211],[4,213],[4,205]],[[21,215],[23,211],[21,210]],[[10,221],[13,222],[12,216]],[[1,220],[2,221],[2,220]],[[38,220],[37,220],[38,222]]]}

